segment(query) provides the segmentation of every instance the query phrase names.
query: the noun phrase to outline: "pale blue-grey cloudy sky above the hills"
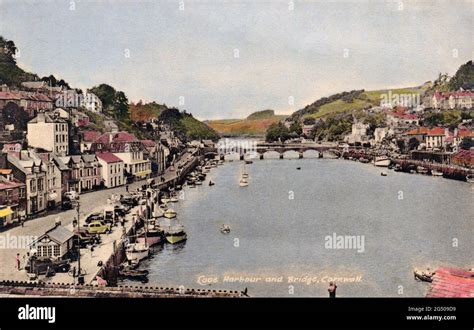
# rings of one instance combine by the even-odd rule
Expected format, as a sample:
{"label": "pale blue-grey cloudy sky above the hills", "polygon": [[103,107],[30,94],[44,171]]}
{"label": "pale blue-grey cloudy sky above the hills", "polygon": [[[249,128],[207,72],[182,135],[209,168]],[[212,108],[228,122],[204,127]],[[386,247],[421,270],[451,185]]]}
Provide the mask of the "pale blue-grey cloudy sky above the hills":
{"label": "pale blue-grey cloudy sky above the hills", "polygon": [[0,0],[18,64],[199,119],[417,86],[474,58],[474,0]]}

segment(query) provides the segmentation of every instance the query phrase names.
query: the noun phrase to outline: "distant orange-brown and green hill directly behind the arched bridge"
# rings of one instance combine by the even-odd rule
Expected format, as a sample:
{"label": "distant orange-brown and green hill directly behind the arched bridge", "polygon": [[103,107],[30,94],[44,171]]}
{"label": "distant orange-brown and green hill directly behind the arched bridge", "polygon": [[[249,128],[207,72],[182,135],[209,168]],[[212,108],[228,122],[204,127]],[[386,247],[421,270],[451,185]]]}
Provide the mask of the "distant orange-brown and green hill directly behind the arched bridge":
{"label": "distant orange-brown and green hill directly behind the arched bridge", "polygon": [[209,120],[207,124],[223,136],[264,136],[268,127],[287,116],[275,115],[273,110],[257,111],[246,119]]}

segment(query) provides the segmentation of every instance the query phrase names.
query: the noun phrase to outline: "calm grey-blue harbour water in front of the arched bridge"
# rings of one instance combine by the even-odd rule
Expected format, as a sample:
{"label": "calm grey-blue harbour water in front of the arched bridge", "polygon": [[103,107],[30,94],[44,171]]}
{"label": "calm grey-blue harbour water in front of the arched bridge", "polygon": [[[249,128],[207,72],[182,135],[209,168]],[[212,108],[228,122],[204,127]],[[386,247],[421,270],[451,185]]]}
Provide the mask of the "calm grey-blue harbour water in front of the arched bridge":
{"label": "calm grey-blue harbour water in front of the arched bridge", "polygon": [[[244,188],[241,166],[226,162],[208,174],[215,186],[206,179],[184,189],[173,208],[188,240],[154,248],[143,262],[149,285],[325,297],[335,280],[338,296],[410,297],[428,288],[414,280],[415,267],[474,267],[468,183],[383,177],[380,168],[338,159],[265,159],[246,166]],[[219,231],[223,223],[230,234]],[[351,236],[355,246],[328,236]]]}

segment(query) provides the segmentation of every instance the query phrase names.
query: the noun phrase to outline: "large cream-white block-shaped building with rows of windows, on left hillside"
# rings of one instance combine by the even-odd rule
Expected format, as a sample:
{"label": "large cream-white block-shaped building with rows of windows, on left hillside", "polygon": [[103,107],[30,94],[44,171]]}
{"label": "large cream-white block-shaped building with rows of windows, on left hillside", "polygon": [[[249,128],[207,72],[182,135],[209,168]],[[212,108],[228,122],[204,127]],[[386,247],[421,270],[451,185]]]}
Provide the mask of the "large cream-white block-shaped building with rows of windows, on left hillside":
{"label": "large cream-white block-shaped building with rows of windows, on left hillside", "polygon": [[28,122],[28,145],[65,156],[69,153],[67,122],[48,113],[40,112]]}

